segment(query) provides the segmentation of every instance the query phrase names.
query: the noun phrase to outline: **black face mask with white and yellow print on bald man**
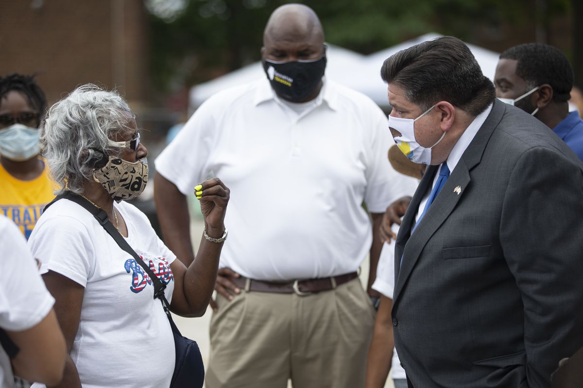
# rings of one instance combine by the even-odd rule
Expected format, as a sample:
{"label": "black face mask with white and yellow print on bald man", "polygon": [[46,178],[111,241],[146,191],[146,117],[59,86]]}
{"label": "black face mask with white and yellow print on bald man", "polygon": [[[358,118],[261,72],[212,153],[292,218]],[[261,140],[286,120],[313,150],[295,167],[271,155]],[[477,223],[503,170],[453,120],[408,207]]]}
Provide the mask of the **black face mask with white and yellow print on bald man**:
{"label": "black face mask with white and yellow print on bald man", "polygon": [[279,97],[291,102],[302,102],[314,93],[322,81],[326,56],[285,63],[264,59],[263,68],[271,87]]}

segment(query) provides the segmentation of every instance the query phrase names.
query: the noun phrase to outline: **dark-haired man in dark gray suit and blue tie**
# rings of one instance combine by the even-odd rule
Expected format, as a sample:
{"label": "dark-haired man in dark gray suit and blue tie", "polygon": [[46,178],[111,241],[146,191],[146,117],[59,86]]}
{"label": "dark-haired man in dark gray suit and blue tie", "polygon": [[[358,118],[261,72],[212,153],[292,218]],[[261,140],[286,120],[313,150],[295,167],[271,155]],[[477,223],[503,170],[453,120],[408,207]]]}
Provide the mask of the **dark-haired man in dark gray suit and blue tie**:
{"label": "dark-haired man in dark gray suit and blue tie", "polygon": [[395,250],[409,386],[549,387],[583,345],[583,164],[495,99],[456,38],[398,52],[381,75],[396,143],[429,165]]}

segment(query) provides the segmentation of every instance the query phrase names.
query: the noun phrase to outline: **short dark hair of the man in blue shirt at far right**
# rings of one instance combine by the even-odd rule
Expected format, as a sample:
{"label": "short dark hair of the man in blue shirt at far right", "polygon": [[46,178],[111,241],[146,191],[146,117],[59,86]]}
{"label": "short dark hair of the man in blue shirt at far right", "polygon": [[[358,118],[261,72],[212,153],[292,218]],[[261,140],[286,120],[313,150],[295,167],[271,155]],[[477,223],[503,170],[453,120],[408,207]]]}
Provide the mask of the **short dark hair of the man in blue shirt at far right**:
{"label": "short dark hair of the man in blue shirt at far right", "polygon": [[567,57],[556,47],[542,43],[526,43],[511,47],[500,59],[514,59],[516,75],[532,89],[542,84],[553,88],[553,101],[566,102],[571,97],[575,76]]}

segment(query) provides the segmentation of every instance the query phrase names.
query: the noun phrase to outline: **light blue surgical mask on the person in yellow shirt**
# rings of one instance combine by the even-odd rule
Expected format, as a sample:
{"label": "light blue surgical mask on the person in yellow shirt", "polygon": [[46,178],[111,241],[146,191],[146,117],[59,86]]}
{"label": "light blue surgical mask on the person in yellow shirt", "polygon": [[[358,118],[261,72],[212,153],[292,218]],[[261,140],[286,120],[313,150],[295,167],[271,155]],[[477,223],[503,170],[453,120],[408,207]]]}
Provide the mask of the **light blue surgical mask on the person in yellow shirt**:
{"label": "light blue surgical mask on the person in yellow shirt", "polygon": [[15,162],[27,161],[38,155],[38,129],[23,124],[12,124],[0,129],[0,154]]}

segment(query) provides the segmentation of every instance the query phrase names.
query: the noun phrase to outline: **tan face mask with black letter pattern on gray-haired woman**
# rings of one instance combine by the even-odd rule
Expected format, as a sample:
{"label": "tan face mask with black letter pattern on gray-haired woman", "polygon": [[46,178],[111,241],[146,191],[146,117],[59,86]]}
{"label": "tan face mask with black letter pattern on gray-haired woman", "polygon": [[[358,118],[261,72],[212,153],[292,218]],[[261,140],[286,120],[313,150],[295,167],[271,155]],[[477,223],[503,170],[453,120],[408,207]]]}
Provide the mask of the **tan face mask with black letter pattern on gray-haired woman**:
{"label": "tan face mask with black letter pattern on gray-haired woman", "polygon": [[137,162],[109,157],[105,166],[93,171],[93,179],[101,183],[115,202],[137,198],[147,183],[147,159]]}

